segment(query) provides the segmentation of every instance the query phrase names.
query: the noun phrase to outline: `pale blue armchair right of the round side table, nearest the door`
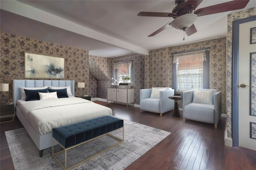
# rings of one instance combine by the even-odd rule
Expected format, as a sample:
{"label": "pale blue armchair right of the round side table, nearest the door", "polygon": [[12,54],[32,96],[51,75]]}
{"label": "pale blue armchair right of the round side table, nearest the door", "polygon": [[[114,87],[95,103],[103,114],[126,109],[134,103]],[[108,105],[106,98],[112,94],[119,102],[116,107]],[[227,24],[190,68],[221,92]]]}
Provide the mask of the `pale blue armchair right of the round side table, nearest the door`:
{"label": "pale blue armchair right of the round side table, nearest the door", "polygon": [[215,89],[194,89],[183,92],[183,121],[186,119],[212,123],[221,117],[221,92]]}

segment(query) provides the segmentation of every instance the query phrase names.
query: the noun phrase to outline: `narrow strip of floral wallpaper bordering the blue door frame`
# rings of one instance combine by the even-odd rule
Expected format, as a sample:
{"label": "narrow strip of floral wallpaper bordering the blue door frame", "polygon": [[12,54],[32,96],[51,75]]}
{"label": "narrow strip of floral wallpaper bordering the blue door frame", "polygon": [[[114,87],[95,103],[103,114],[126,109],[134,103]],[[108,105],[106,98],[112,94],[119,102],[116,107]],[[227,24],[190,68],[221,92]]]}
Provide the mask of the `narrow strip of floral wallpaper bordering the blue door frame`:
{"label": "narrow strip of floral wallpaper bordering the blue door frame", "polygon": [[226,56],[226,76],[227,76],[227,86],[226,86],[226,100],[227,100],[227,137],[232,138],[232,46],[233,46],[233,21],[240,20],[243,18],[248,18],[250,16],[256,16],[256,7],[249,8],[234,14],[228,15],[228,33],[227,33],[227,56]]}

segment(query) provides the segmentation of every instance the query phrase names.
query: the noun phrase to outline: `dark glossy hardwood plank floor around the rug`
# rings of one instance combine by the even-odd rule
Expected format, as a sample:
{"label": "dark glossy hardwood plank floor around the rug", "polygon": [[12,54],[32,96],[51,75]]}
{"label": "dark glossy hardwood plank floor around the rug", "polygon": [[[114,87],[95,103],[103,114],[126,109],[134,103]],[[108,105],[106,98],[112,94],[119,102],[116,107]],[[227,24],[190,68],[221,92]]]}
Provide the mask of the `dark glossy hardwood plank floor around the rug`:
{"label": "dark glossy hardwood plank floor around the rug", "polygon": [[[172,112],[160,117],[151,112],[140,113],[136,107],[94,102],[112,108],[113,116],[171,132],[125,170],[256,170],[256,151],[224,146],[226,118],[221,118],[214,129],[213,124],[183,122],[182,111],[181,118],[173,118]],[[0,125],[1,170],[14,170],[4,132],[22,127],[18,118]]]}

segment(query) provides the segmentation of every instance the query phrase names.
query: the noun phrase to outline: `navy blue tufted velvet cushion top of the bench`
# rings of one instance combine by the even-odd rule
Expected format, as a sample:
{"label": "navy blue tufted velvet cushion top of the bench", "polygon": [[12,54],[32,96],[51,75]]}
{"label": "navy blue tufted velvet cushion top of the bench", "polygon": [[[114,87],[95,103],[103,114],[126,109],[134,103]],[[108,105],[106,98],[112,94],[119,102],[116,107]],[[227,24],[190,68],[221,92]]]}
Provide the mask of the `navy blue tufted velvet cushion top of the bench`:
{"label": "navy blue tufted velvet cushion top of the bench", "polygon": [[124,126],[124,120],[102,116],[52,129],[52,137],[64,148],[80,144]]}

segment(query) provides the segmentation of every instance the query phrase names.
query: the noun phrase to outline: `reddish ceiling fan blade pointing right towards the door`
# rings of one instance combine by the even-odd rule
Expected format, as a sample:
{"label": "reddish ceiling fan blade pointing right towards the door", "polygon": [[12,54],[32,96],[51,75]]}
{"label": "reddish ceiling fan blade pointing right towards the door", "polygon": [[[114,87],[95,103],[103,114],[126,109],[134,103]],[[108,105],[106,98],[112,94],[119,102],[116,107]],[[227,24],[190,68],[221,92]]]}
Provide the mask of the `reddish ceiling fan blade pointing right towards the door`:
{"label": "reddish ceiling fan blade pointing right towards the door", "polygon": [[194,14],[200,13],[204,11],[199,16],[209,15],[209,14],[216,14],[220,12],[227,12],[232,10],[239,10],[244,8],[248,4],[249,0],[233,0],[230,2],[224,2],[222,4],[216,4],[213,6],[208,6],[205,8],[200,8],[194,12]]}

